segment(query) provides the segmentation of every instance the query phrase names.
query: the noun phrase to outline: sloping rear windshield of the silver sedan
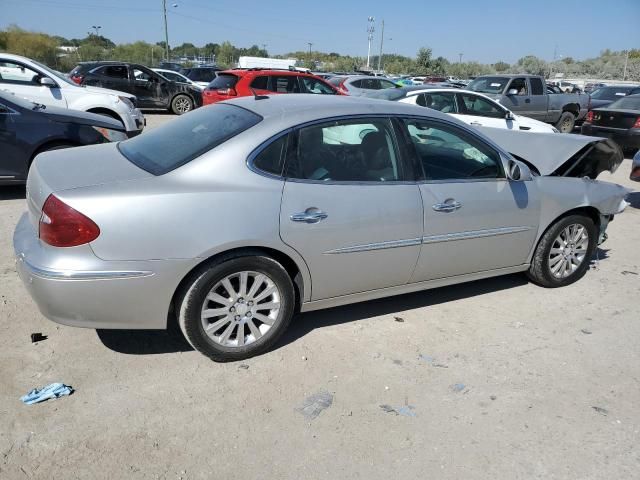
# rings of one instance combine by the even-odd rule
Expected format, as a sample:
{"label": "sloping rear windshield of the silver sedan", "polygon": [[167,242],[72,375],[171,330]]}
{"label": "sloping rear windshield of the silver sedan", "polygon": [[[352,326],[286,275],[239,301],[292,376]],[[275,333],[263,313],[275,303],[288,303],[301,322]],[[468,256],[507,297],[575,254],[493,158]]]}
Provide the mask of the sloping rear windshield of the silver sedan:
{"label": "sloping rear windshield of the silver sedan", "polygon": [[235,105],[199,108],[118,144],[127,160],[154,175],[164,175],[248,130],[262,120]]}

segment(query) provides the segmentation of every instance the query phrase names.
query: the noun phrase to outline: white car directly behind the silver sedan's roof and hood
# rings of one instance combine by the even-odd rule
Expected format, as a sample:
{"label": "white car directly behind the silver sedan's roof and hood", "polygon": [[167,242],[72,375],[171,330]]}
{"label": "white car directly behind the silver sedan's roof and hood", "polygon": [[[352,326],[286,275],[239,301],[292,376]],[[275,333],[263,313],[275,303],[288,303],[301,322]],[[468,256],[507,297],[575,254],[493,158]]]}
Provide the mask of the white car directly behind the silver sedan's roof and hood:
{"label": "white car directly behind the silver sedan's roof and hood", "polygon": [[[553,125],[514,114],[495,100],[481,93],[457,88],[404,89],[406,95],[395,100],[403,103],[448,113],[469,125],[477,127],[527,130],[530,132],[558,133]],[[398,92],[400,93],[400,92]]]}

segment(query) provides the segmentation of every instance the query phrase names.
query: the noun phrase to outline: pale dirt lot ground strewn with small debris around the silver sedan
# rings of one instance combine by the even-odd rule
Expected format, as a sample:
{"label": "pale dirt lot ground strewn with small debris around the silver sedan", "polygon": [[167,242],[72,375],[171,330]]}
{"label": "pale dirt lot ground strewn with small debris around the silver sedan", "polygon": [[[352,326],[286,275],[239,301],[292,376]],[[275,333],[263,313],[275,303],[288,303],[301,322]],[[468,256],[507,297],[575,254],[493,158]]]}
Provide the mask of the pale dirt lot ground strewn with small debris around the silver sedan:
{"label": "pale dirt lot ground strewn with small debris around the silver sedan", "polygon": [[[637,189],[629,168],[613,180]],[[177,334],[43,318],[14,268],[24,189],[2,188],[0,478],[638,478],[630,199],[570,287],[511,275],[300,315],[272,352],[221,365]],[[51,382],[76,392],[19,401]],[[296,410],[319,392],[317,418]]]}

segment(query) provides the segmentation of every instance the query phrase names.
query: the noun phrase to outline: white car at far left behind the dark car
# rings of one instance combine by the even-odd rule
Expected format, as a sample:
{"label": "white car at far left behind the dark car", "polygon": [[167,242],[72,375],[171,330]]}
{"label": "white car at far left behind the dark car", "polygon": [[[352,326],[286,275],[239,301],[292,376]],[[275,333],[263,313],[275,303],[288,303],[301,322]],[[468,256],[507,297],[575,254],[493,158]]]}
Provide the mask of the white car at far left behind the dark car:
{"label": "white car at far left behind the dark car", "polygon": [[116,90],[76,85],[69,78],[19,55],[0,53],[0,90],[46,106],[97,113],[119,120],[129,136],[142,132],[145,118],[136,97]]}

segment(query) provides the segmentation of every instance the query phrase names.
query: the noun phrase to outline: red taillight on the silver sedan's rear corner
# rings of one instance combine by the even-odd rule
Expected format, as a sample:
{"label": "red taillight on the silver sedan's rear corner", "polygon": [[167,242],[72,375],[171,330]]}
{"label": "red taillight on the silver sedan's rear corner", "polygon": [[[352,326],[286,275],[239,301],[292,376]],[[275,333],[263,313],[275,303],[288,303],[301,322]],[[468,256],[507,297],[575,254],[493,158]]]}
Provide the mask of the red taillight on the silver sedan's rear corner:
{"label": "red taillight on the silver sedan's rear corner", "polygon": [[100,228],[87,216],[49,195],[40,216],[40,240],[53,247],[75,247],[94,241]]}

